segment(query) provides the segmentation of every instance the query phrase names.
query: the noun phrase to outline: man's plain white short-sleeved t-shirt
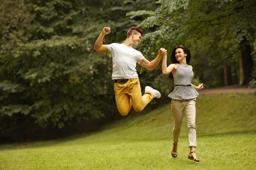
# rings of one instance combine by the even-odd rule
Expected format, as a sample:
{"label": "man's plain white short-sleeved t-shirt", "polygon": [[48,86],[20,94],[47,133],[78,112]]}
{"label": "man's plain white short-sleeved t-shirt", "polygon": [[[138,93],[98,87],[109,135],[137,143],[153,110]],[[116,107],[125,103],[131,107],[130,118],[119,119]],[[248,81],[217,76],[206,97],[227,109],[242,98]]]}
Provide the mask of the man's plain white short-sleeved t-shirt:
{"label": "man's plain white short-sleeved t-shirt", "polygon": [[140,64],[145,58],[140,51],[118,43],[109,44],[108,51],[113,56],[112,79],[138,78],[136,63]]}

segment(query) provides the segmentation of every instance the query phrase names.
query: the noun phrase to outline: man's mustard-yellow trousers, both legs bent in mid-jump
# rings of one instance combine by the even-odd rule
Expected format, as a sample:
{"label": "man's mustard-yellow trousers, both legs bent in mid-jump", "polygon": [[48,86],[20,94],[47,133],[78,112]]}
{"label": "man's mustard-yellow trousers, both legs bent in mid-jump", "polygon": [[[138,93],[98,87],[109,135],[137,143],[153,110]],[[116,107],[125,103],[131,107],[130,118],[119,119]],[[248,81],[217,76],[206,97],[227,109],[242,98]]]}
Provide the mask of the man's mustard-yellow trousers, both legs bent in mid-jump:
{"label": "man's mustard-yellow trousers, both legs bent in mid-jump", "polygon": [[129,79],[125,83],[115,83],[116,106],[122,116],[126,116],[133,106],[135,111],[142,111],[154,98],[153,94],[141,93],[139,79]]}

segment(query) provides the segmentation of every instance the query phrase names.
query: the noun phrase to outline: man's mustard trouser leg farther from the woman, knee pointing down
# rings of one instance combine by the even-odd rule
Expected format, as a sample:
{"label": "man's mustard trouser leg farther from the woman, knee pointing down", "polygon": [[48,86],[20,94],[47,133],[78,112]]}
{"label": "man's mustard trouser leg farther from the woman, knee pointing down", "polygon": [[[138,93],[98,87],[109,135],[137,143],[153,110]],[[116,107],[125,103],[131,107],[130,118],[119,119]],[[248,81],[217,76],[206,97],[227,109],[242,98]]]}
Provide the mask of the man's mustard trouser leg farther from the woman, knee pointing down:
{"label": "man's mustard trouser leg farther from the woman, knee pointing down", "polygon": [[125,84],[115,83],[114,91],[116,94],[116,107],[122,116],[126,116],[131,110],[131,99],[125,93]]}

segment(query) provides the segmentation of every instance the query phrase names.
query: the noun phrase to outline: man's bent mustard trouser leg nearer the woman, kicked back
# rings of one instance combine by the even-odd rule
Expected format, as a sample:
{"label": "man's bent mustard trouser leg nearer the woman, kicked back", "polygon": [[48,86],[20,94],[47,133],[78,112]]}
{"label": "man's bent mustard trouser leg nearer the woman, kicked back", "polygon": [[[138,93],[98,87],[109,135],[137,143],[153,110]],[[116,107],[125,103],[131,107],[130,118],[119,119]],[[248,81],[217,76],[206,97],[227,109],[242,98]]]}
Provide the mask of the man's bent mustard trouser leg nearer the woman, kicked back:
{"label": "man's bent mustard trouser leg nearer the woman, kicked back", "polygon": [[135,111],[142,111],[154,96],[150,92],[142,96],[139,79],[130,79],[128,83],[127,93],[131,97],[132,106]]}

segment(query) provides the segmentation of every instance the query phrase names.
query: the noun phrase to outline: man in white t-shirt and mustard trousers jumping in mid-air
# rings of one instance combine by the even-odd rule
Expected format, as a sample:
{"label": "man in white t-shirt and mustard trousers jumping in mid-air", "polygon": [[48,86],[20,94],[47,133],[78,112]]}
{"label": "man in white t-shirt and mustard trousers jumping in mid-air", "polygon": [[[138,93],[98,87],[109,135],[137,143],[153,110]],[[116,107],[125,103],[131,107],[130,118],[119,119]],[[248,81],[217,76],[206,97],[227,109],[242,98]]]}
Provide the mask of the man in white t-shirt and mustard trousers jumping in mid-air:
{"label": "man in white t-shirt and mustard trousers jumping in mid-air", "polygon": [[110,30],[109,27],[103,28],[95,42],[94,49],[101,53],[110,51],[113,55],[112,79],[115,82],[116,106],[119,113],[126,116],[131,106],[135,111],[142,111],[154,97],[160,98],[160,92],[149,86],[145,87],[145,94],[142,96],[136,63],[148,70],[153,70],[163,57],[161,51],[166,50],[161,48],[157,57],[149,62],[140,51],[133,48],[134,45],[139,44],[143,36],[143,31],[140,28],[131,27],[127,32],[127,39],[122,44],[102,45],[103,38],[111,32]]}

